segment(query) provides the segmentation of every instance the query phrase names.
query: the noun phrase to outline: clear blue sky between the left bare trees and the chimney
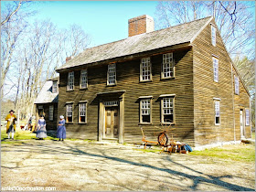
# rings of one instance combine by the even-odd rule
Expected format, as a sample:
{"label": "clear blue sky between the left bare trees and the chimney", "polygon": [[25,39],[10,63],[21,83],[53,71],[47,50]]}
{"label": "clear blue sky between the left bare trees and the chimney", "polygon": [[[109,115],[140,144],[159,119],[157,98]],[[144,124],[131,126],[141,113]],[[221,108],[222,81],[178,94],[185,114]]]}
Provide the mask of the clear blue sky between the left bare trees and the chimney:
{"label": "clear blue sky between the left bare trees and the chimney", "polygon": [[37,2],[33,19],[49,18],[59,28],[80,25],[91,36],[90,47],[128,37],[128,19],[155,16],[157,1]]}

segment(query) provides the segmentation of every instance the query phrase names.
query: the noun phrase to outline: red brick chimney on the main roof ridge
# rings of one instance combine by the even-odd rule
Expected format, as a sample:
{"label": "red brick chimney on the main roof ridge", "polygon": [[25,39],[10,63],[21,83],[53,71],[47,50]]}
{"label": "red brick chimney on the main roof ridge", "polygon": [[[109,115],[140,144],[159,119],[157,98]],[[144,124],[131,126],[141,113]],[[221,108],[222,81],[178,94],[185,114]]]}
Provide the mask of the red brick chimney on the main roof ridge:
{"label": "red brick chimney on the main roof ridge", "polygon": [[129,37],[154,31],[154,19],[151,16],[137,16],[129,19],[128,23]]}

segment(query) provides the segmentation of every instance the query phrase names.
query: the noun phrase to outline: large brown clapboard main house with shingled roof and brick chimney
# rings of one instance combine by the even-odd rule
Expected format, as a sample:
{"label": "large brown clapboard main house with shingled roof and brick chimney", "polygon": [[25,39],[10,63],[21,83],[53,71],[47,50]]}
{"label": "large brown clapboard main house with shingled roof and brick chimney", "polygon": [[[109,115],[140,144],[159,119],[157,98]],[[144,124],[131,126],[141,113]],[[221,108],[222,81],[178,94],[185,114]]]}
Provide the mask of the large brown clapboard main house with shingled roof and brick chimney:
{"label": "large brown clapboard main house with shingled roof and brick chimney", "polygon": [[193,146],[251,137],[250,95],[213,17],[154,30],[129,20],[129,37],[87,48],[57,69],[69,137],[140,143],[170,125]]}

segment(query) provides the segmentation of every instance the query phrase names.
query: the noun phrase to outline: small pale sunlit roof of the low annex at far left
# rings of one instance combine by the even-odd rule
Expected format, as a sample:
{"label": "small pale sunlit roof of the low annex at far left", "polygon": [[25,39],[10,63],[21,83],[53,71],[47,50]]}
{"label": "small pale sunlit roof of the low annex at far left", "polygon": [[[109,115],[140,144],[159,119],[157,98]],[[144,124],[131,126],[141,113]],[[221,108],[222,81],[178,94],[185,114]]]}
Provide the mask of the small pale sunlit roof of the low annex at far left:
{"label": "small pale sunlit roof of the low annex at far left", "polygon": [[59,101],[59,93],[52,92],[52,80],[46,81],[42,90],[39,92],[37,96],[35,104],[58,102],[58,101]]}

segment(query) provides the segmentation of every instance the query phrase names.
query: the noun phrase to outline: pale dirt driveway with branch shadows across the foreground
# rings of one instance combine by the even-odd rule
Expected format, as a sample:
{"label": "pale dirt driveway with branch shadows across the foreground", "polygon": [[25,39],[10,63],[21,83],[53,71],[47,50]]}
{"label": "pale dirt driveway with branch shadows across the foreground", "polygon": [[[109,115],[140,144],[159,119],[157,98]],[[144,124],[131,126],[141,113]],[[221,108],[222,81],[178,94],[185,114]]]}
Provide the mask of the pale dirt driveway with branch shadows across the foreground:
{"label": "pale dirt driveway with branch shadows across the foreground", "polygon": [[255,188],[255,163],[159,155],[134,148],[68,140],[2,144],[2,187],[56,187],[66,191]]}

